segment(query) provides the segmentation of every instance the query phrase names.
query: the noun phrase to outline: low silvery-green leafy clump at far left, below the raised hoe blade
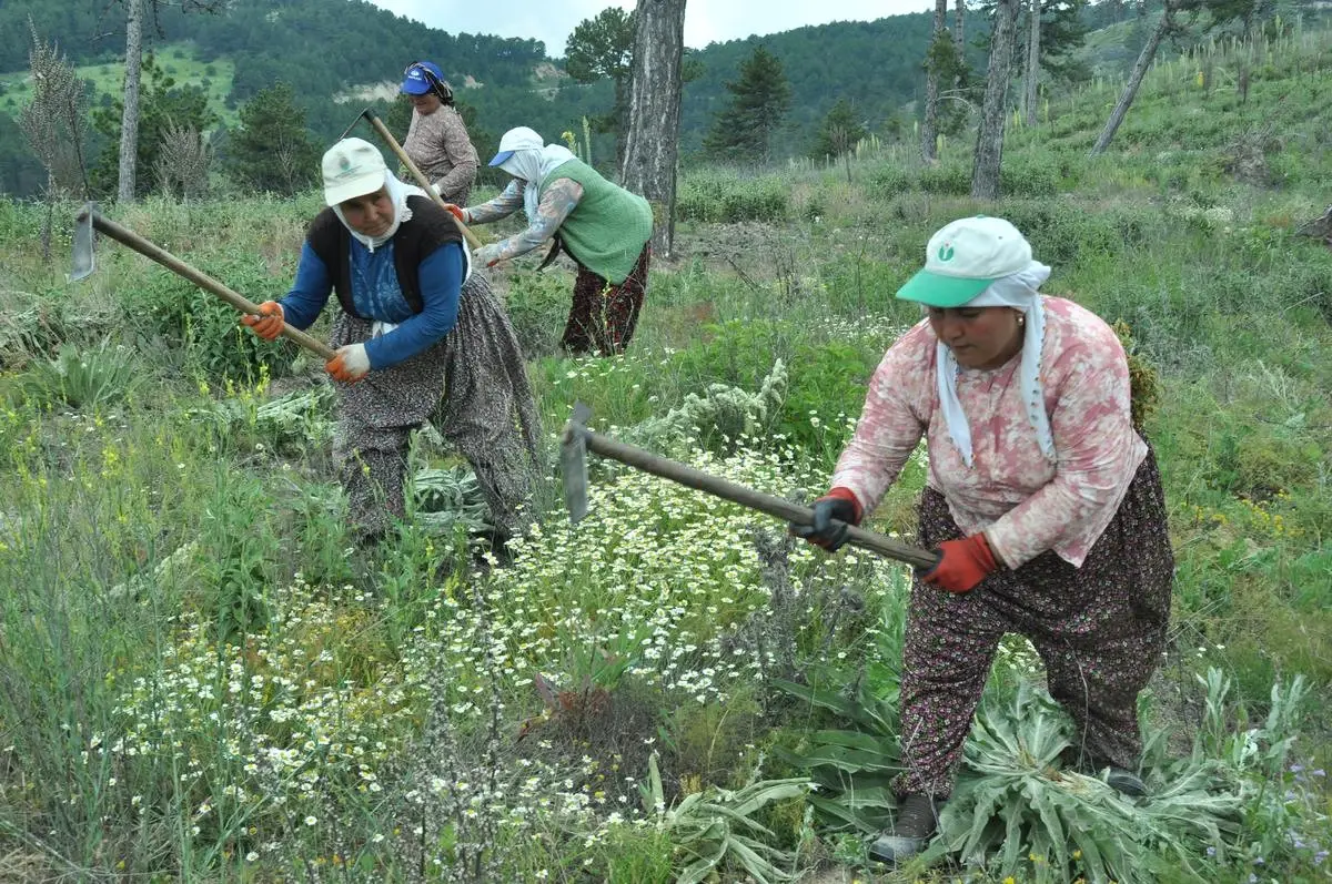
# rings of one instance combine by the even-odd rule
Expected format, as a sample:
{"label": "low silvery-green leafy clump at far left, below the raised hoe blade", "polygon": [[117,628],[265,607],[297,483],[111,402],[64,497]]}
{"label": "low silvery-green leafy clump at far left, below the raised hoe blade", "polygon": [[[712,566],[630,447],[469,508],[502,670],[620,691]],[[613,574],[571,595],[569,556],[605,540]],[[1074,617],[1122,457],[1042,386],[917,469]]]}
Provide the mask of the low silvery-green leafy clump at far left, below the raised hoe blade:
{"label": "low silvery-green leafy clump at far left, below the raised hoe blade", "polygon": [[124,346],[103,341],[95,350],[80,350],[65,343],[55,359],[33,363],[19,389],[39,407],[99,409],[128,397],[140,379],[133,355]]}

